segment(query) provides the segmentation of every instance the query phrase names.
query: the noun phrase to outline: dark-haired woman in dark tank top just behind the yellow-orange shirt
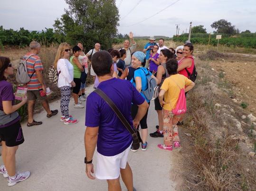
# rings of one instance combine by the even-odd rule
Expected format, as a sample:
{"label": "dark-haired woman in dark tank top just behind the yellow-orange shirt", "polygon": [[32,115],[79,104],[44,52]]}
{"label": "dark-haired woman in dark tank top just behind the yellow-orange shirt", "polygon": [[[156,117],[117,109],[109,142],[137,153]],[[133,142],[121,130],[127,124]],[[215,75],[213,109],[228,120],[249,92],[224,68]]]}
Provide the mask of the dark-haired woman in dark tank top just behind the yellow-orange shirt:
{"label": "dark-haired woman in dark tank top just behind the yellow-orange shirt", "polygon": [[[165,66],[165,62],[167,62],[169,59],[173,58],[173,56],[174,56],[173,53],[168,49],[162,49],[160,52],[159,60],[160,60],[161,64],[157,68],[157,75],[156,75],[156,78],[160,82],[158,84],[159,91],[160,91],[160,87],[161,87],[164,79],[169,77],[169,74],[168,74],[166,66]],[[157,130],[155,132],[150,133],[150,136],[151,137],[163,137],[162,107],[161,107],[158,97],[154,100],[154,102],[155,102],[155,110],[158,114],[159,125],[156,126]]]}

